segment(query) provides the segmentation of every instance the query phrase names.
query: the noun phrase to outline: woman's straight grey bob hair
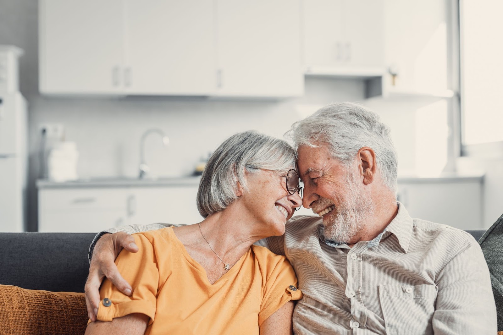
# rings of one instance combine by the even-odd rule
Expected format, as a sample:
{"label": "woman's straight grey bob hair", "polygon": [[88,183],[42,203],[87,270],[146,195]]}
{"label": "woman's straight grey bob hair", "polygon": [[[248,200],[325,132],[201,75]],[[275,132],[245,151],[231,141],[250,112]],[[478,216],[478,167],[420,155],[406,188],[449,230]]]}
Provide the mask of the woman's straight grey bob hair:
{"label": "woman's straight grey bob hair", "polygon": [[295,167],[296,151],[285,141],[248,130],[227,138],[208,160],[197,191],[197,209],[203,217],[227,208],[238,197],[237,183],[246,192],[245,171],[288,171]]}

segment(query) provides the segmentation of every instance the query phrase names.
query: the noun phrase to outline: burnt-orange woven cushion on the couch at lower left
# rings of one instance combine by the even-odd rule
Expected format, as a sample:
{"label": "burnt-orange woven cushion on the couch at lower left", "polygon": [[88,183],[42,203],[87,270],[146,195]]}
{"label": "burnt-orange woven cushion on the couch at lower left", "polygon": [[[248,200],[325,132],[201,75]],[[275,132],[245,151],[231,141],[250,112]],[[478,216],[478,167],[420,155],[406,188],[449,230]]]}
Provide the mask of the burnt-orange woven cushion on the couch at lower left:
{"label": "burnt-orange woven cushion on the couch at lower left", "polygon": [[0,285],[0,334],[83,334],[83,293],[26,290]]}

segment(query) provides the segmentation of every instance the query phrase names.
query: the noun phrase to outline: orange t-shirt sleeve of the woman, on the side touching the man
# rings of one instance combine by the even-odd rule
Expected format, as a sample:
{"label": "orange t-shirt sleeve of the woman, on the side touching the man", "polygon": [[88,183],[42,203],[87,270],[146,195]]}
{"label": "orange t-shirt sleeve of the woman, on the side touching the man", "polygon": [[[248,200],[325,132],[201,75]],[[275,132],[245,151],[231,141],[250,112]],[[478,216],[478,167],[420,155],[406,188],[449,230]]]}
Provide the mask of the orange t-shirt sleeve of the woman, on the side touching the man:
{"label": "orange t-shirt sleeve of the woman, on the side touching the man", "polygon": [[297,276],[284,256],[270,256],[267,260],[267,279],[259,312],[259,326],[290,300],[302,299],[297,288]]}

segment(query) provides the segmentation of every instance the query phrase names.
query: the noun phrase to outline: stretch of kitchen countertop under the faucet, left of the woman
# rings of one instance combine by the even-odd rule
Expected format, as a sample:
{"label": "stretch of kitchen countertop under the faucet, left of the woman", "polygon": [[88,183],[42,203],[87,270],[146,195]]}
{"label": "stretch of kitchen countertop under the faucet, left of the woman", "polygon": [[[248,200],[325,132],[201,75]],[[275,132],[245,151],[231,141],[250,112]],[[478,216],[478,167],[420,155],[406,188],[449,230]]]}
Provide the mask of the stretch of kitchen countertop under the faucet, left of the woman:
{"label": "stretch of kitchen countertop under the faucet, left of the woman", "polygon": [[53,182],[47,179],[37,180],[38,189],[64,188],[117,188],[117,187],[163,187],[163,186],[199,186],[200,176],[162,177],[158,179],[138,179],[132,177],[82,178],[70,182]]}

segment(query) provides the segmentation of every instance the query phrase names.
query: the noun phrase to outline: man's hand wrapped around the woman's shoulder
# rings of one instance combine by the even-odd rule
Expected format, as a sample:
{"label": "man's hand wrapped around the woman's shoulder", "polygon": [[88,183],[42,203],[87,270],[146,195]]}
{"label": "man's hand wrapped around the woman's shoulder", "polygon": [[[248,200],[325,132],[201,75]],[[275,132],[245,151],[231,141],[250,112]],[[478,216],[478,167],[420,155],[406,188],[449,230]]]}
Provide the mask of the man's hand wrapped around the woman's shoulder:
{"label": "man's hand wrapped around the woman's shoulder", "polygon": [[122,293],[131,295],[131,285],[122,278],[115,265],[115,259],[122,249],[131,253],[138,251],[133,236],[123,231],[115,234],[105,234],[96,242],[93,258],[89,266],[89,276],[86,281],[86,305],[91,321],[96,321],[98,304],[100,303],[100,285],[107,277]]}

